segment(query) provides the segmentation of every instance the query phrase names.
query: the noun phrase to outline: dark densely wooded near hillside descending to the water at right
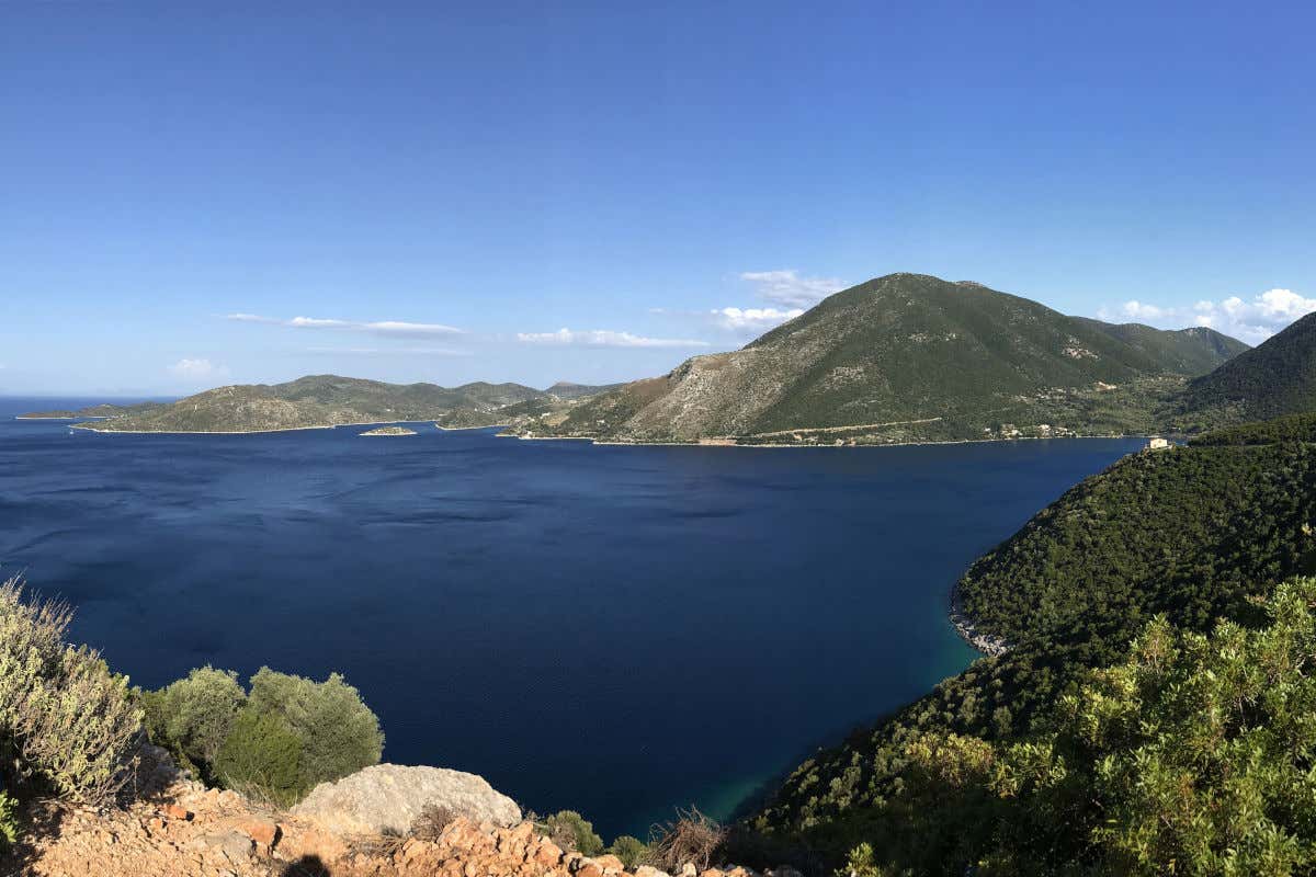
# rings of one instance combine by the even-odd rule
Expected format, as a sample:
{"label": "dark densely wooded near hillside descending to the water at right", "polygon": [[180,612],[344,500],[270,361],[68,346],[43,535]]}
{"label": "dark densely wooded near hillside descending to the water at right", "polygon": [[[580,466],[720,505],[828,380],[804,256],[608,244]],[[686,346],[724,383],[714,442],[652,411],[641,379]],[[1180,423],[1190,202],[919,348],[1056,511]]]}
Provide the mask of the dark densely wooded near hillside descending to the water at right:
{"label": "dark densely wooded near hillside descending to the water at right", "polygon": [[959,847],[948,855],[961,859],[937,866],[919,859],[953,848],[966,826],[911,797],[916,744],[1032,740],[1061,698],[1092,668],[1124,660],[1158,614],[1187,631],[1254,621],[1255,597],[1316,568],[1313,437],[1316,415],[1234,429],[1129,455],[1069,490],[957,586],[976,632],[1008,651],[820,751],[753,824],[832,859],[870,843],[883,873],[966,873],[976,851]]}

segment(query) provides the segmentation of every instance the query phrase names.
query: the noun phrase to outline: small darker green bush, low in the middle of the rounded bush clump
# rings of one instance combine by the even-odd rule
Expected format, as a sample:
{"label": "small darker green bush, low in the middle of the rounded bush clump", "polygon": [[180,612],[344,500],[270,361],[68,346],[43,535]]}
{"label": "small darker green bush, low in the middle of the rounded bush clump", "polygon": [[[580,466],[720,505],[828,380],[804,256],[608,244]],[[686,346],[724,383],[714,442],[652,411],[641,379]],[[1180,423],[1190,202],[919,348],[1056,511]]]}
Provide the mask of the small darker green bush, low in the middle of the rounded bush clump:
{"label": "small darker green bush, low in the middle of the rounded bush clump", "polygon": [[301,738],[280,715],[246,706],[216,755],[213,774],[250,798],[290,807],[309,792],[304,755]]}

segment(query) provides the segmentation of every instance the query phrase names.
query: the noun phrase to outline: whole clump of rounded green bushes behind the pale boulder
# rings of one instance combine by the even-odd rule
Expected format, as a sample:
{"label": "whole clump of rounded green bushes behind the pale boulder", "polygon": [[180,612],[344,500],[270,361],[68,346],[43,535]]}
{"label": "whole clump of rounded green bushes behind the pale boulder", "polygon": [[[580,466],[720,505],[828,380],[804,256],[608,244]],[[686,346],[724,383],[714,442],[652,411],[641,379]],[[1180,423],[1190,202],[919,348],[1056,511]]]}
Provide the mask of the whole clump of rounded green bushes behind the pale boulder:
{"label": "whole clump of rounded green bushes behind the pale boulder", "polygon": [[280,806],[383,755],[379,719],[337,673],[315,682],[261,668],[247,693],[236,673],[204,667],[141,699],[157,744],[208,782]]}

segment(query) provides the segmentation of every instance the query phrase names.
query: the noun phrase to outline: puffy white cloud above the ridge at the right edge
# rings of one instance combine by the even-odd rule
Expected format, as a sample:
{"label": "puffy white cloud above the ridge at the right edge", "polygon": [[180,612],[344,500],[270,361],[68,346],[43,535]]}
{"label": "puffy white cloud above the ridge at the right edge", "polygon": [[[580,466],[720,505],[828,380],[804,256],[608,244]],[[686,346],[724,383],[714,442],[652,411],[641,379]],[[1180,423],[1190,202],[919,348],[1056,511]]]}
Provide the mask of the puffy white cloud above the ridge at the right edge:
{"label": "puffy white cloud above the ridge at the right edge", "polygon": [[1316,312],[1316,298],[1307,298],[1292,289],[1269,289],[1250,300],[1230,296],[1224,301],[1203,300],[1191,308],[1130,300],[1115,309],[1101,308],[1098,317],[1108,321],[1136,320],[1165,329],[1209,326],[1255,344],[1312,312]]}

